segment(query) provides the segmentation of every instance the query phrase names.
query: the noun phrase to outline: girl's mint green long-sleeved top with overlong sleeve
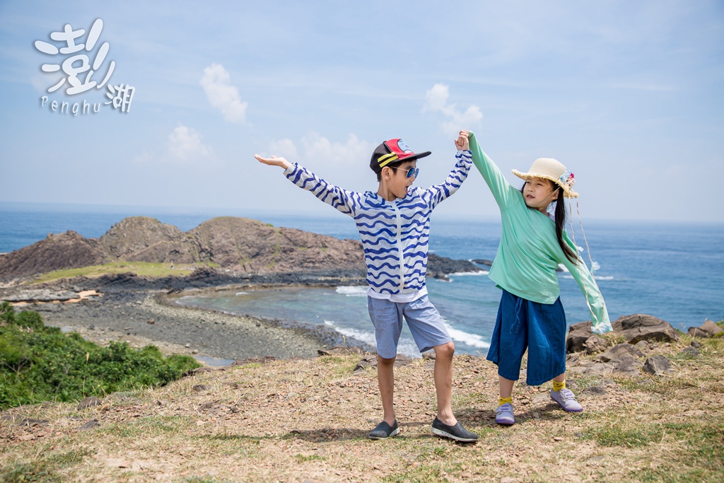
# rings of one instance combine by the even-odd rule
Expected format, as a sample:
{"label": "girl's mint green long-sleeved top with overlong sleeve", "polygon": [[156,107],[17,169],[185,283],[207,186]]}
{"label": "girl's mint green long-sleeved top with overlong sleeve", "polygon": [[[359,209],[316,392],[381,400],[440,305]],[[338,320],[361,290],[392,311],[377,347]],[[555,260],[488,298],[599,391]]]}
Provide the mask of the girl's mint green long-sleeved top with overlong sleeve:
{"label": "girl's mint green long-sleeved top with overlong sleeve", "polygon": [[[473,164],[500,207],[502,219],[500,245],[488,277],[498,287],[518,297],[538,303],[555,303],[560,295],[555,269],[563,264],[586,297],[594,332],[600,334],[611,330],[606,304],[596,281],[581,256],[578,256],[578,264],[566,258],[555,236],[555,222],[526,206],[520,190],[505,180],[500,169],[482,151],[473,133],[470,133],[470,150]],[[565,230],[563,240],[578,253]]]}

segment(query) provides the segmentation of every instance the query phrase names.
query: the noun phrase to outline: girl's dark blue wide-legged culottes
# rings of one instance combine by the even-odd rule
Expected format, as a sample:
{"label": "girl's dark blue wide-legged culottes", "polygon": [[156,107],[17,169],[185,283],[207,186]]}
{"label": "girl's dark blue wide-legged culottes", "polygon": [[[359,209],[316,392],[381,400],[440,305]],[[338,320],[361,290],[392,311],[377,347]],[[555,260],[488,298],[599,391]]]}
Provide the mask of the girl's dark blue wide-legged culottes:
{"label": "girl's dark blue wide-legged culottes", "polygon": [[517,381],[528,348],[526,384],[541,385],[565,372],[565,330],[560,298],[537,303],[503,290],[487,359],[498,375]]}

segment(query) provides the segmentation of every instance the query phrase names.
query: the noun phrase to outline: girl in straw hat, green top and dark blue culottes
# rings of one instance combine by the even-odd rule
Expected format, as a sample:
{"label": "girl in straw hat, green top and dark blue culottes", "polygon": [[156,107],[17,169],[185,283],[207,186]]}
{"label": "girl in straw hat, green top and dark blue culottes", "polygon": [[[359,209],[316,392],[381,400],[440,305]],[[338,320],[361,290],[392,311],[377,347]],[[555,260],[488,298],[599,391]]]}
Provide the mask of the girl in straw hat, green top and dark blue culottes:
{"label": "girl in straw hat, green top and dark blue culottes", "polygon": [[[528,172],[513,169],[525,180],[517,190],[481,150],[469,133],[473,163],[500,207],[502,236],[490,277],[502,289],[487,359],[498,366],[500,400],[495,410],[498,424],[514,424],[513,383],[528,349],[526,383],[541,385],[553,379],[550,397],[565,411],[582,411],[571,390],[565,388],[565,313],[555,270],[568,269],[578,282],[591,310],[593,331],[611,330],[601,292],[575,245],[563,229],[565,202],[578,193],[573,175],[550,158],[536,159]],[[551,219],[549,207],[555,204]]]}

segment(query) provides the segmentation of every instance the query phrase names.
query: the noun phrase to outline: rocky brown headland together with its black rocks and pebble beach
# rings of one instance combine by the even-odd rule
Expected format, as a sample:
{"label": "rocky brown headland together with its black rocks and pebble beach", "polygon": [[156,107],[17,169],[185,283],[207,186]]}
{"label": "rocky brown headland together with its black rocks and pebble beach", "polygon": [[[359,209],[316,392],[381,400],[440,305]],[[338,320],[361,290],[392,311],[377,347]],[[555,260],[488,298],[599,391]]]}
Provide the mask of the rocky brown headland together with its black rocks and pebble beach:
{"label": "rocky brown headland together with its black rocks and pebble beach", "polygon": [[[38,282],[58,270],[127,262],[177,267],[177,274],[109,272]],[[429,256],[428,276],[476,272],[471,261]],[[102,272],[102,270],[101,270]],[[334,345],[355,345],[324,327],[237,316],[178,306],[193,290],[249,290],[277,286],[364,285],[358,240],[339,240],[253,219],[220,217],[188,232],[148,217],[114,224],[101,238],[68,231],[0,255],[0,300],[40,312],[46,324],[89,340],[157,345],[164,353],[222,359],[316,356]]]}

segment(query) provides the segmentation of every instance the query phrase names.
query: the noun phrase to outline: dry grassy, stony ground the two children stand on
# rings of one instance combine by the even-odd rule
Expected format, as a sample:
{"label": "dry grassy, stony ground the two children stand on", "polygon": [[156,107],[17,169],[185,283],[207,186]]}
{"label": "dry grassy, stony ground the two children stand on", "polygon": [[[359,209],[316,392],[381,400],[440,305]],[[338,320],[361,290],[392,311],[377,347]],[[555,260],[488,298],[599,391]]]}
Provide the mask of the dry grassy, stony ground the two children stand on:
{"label": "dry grassy, stony ground the two children stand on", "polygon": [[[353,374],[354,356],[237,366],[116,393],[85,411],[15,408],[0,421],[0,479],[721,482],[724,341],[702,344],[696,357],[678,356],[686,342],[660,346],[676,369],[668,377],[569,374],[579,414],[557,409],[549,387],[516,385],[513,427],[494,424],[494,366],[456,357],[453,408],[480,434],[476,445],[432,436],[432,362],[424,360],[396,370],[402,431],[383,441],[366,438],[382,413],[376,372]],[[605,394],[587,395],[592,386]],[[48,422],[19,426],[24,418]],[[100,427],[77,432],[91,419]]]}

